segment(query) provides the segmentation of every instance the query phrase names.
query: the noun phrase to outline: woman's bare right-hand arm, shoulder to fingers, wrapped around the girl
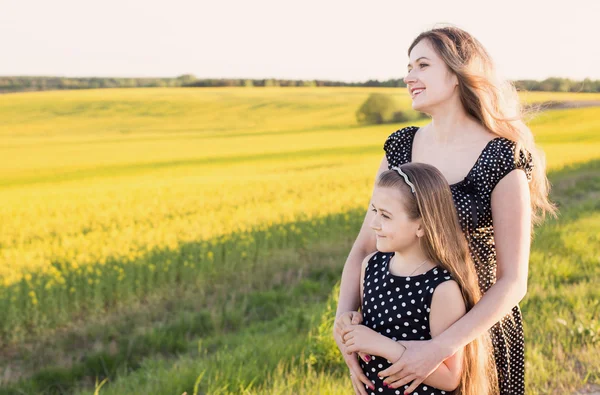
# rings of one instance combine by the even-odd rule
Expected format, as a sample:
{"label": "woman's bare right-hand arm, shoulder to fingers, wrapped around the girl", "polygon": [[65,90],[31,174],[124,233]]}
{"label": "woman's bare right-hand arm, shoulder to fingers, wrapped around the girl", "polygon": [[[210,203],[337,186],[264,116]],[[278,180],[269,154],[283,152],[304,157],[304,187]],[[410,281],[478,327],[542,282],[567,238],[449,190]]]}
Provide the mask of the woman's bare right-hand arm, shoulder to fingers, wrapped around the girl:
{"label": "woman's bare right-hand arm, shoulder to fingers, wrapped around the girl", "polygon": [[[403,342],[400,361],[381,373],[398,380],[397,388],[413,382],[408,392],[422,383],[446,358],[500,321],[527,292],[531,240],[531,199],[525,173],[513,170],[492,192],[492,217],[497,255],[497,281],[464,317],[428,341]],[[416,344],[419,344],[418,346]]]}

